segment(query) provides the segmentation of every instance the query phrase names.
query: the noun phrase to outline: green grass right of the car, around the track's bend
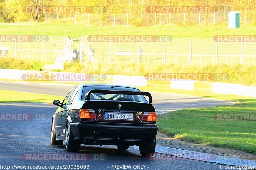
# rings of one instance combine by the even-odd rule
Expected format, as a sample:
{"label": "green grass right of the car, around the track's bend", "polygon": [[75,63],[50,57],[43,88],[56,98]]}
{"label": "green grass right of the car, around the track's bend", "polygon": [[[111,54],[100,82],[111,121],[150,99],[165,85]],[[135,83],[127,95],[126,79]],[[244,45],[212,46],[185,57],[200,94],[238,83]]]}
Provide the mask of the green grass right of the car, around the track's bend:
{"label": "green grass right of the car, around the track's bend", "polygon": [[[214,98],[218,95],[211,92],[207,95],[203,92],[191,94]],[[217,98],[236,101],[237,104],[169,112],[169,118],[157,120],[159,130],[179,139],[256,155],[256,121],[213,119],[214,114],[256,114],[256,99],[235,95],[218,95]]]}

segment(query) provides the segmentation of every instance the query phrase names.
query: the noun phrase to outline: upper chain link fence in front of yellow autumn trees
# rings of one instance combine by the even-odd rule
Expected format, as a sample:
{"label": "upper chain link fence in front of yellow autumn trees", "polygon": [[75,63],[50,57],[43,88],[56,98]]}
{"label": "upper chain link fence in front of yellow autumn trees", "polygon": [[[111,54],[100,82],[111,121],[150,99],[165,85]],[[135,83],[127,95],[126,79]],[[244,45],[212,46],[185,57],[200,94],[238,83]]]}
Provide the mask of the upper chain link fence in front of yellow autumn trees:
{"label": "upper chain link fence in front of yellow autumn trees", "polygon": [[[240,12],[240,23],[255,23]],[[228,25],[228,13],[74,13],[45,14],[45,21],[71,22],[85,26]]]}

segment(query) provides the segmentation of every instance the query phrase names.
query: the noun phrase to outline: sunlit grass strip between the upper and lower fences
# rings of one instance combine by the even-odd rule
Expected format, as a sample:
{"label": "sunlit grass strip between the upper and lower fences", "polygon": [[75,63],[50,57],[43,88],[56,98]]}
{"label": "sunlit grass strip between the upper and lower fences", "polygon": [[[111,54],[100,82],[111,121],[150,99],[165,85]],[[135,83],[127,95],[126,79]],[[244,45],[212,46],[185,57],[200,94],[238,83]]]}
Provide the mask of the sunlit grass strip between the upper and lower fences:
{"label": "sunlit grass strip between the upper and lower fences", "polygon": [[[40,27],[40,29],[38,29]],[[256,26],[241,26],[228,29],[228,26],[74,26],[69,23],[42,22],[24,24],[0,24],[2,35],[48,35],[77,38],[84,35],[172,35],[173,38],[213,38],[214,35],[237,34],[253,35]]]}

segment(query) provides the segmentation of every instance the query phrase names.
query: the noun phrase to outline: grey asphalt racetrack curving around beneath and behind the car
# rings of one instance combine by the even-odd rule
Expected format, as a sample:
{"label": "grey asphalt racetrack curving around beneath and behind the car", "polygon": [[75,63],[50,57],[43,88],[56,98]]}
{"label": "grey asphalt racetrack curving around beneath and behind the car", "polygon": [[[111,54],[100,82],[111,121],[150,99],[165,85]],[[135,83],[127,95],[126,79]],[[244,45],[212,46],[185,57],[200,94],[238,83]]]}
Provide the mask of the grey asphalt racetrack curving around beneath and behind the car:
{"label": "grey asphalt racetrack curving around beneath and behind the car", "polygon": [[[33,92],[65,96],[71,86],[0,83],[1,90]],[[226,101],[152,92],[158,113],[191,107],[213,107],[232,104]],[[72,153],[65,146],[51,144],[51,119],[57,109],[54,105],[32,103],[0,104],[0,114],[28,114],[28,120],[1,120],[0,167],[31,169],[28,166],[55,166],[52,169],[220,169],[219,164],[188,159],[151,160],[141,157],[139,150],[118,150],[116,146],[85,146]],[[55,154],[55,157],[53,156]],[[68,155],[67,155],[68,154]],[[73,154],[73,155],[72,155]],[[64,159],[63,159],[64,156]],[[66,158],[65,158],[66,156]],[[72,158],[72,159],[71,159]],[[73,159],[75,158],[75,160]],[[83,160],[81,160],[83,158]],[[71,159],[71,160],[70,160]],[[72,165],[72,167],[67,166]],[[127,166],[124,166],[127,165]],[[17,167],[27,166],[27,167]],[[57,167],[58,166],[58,167]],[[60,166],[64,166],[60,168]],[[129,168],[131,166],[131,168]],[[69,168],[68,168],[69,167]],[[82,167],[82,168],[81,168]],[[35,167],[36,168],[36,167]],[[3,168],[2,168],[3,169]],[[7,169],[7,167],[6,167]],[[37,169],[42,169],[37,168]]]}

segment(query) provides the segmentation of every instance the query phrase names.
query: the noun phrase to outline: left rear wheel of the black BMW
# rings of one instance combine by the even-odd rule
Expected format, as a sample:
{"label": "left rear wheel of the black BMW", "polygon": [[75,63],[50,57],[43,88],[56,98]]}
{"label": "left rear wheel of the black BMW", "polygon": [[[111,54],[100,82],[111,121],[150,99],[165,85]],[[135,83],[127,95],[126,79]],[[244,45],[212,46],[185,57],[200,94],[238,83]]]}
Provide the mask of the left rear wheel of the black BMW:
{"label": "left rear wheel of the black BMW", "polygon": [[69,152],[78,152],[80,149],[80,141],[74,140],[72,131],[70,130],[70,123],[66,125],[66,150]]}

